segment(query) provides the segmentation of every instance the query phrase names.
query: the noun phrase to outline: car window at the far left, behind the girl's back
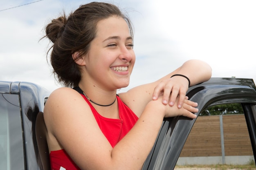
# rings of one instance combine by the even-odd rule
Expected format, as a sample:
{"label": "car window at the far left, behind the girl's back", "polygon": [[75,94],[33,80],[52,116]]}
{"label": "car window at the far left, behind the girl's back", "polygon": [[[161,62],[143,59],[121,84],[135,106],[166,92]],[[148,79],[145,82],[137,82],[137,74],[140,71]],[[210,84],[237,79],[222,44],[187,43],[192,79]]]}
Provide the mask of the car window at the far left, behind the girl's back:
{"label": "car window at the far left, behind the girl's back", "polygon": [[0,93],[0,169],[24,169],[18,95]]}

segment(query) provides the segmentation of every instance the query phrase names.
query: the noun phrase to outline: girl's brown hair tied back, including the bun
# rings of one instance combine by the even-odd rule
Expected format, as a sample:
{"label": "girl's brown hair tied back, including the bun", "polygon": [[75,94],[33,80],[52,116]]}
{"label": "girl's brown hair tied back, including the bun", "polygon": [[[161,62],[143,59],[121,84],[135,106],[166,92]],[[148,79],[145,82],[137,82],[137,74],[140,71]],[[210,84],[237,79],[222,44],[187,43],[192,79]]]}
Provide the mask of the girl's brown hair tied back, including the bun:
{"label": "girl's brown hair tied back, including the bun", "polygon": [[72,54],[79,51],[81,57],[88,53],[90,43],[96,36],[97,23],[111,16],[124,18],[133,37],[132,24],[128,16],[117,6],[104,2],[81,5],[68,18],[64,13],[46,26],[45,37],[53,42],[49,49],[52,49],[50,61],[59,83],[69,87],[78,86],[81,75]]}

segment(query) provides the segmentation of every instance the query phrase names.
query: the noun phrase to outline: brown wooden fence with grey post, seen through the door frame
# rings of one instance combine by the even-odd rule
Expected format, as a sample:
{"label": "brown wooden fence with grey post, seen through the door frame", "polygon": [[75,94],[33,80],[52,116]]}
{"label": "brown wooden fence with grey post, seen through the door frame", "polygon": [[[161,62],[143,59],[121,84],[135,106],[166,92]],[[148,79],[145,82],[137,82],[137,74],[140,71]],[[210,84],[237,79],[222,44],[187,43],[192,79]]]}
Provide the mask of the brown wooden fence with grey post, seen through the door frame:
{"label": "brown wooden fence with grey post, seen through the door frame", "polygon": [[243,114],[199,116],[177,164],[247,164],[253,159]]}

